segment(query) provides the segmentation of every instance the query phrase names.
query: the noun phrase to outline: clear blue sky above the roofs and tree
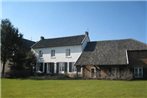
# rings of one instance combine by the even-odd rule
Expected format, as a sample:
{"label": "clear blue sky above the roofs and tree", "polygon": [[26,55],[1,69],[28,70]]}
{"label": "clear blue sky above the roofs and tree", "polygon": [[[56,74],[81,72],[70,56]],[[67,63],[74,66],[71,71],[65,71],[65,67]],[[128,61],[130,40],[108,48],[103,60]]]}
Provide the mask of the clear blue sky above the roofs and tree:
{"label": "clear blue sky above the roofs and tree", "polygon": [[3,2],[8,18],[24,38],[72,36],[88,31],[90,39],[133,38],[147,43],[147,3],[139,1]]}

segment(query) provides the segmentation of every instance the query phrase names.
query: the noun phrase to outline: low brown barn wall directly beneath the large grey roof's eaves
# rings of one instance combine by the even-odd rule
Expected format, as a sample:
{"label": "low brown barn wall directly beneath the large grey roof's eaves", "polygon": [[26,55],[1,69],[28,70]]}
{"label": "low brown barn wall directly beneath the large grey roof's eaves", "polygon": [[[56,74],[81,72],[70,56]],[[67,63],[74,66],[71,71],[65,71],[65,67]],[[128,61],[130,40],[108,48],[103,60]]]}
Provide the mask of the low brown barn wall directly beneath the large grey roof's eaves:
{"label": "low brown barn wall directly beneath the large grey roof's eaves", "polygon": [[96,70],[96,77],[91,77],[91,68],[94,66],[86,65],[83,68],[83,77],[86,79],[110,79],[110,80],[130,80],[133,79],[133,73],[130,67],[127,65],[116,65],[107,67],[99,66],[99,70]]}

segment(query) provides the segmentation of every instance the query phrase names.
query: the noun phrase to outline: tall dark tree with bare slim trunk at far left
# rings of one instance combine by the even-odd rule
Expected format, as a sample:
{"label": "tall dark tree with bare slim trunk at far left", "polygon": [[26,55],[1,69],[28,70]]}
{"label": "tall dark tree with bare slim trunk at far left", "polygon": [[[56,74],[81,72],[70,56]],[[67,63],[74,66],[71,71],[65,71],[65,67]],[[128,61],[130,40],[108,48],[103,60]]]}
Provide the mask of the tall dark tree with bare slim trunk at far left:
{"label": "tall dark tree with bare slim trunk at far left", "polygon": [[18,32],[8,19],[1,20],[1,60],[2,76],[4,76],[5,64],[14,55],[21,44],[22,34]]}

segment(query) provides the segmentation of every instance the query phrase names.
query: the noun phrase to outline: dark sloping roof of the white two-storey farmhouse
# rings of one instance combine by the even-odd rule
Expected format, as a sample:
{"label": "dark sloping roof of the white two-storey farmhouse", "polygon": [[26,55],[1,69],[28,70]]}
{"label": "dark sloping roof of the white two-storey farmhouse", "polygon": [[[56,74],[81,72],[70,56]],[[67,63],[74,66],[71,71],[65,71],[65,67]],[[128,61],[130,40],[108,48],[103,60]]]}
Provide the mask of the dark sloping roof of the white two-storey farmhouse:
{"label": "dark sloping roof of the white two-storey farmhouse", "polygon": [[34,44],[32,48],[46,48],[46,47],[59,47],[59,46],[71,46],[71,45],[81,45],[82,40],[85,35],[60,37],[53,39],[43,39],[38,43]]}

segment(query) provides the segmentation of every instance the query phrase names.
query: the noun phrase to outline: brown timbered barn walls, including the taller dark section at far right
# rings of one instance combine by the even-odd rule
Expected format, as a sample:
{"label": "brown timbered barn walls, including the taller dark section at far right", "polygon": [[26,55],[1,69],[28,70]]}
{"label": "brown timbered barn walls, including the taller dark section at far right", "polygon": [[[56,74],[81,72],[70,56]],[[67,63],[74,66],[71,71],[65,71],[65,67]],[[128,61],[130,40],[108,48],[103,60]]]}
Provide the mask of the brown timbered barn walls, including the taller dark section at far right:
{"label": "brown timbered barn walls, including the taller dark section at far right", "polygon": [[[134,79],[134,67],[143,68],[143,78],[147,79],[147,50],[128,51],[128,65],[84,65],[83,77],[86,79]],[[95,67],[95,77],[91,68]]]}

